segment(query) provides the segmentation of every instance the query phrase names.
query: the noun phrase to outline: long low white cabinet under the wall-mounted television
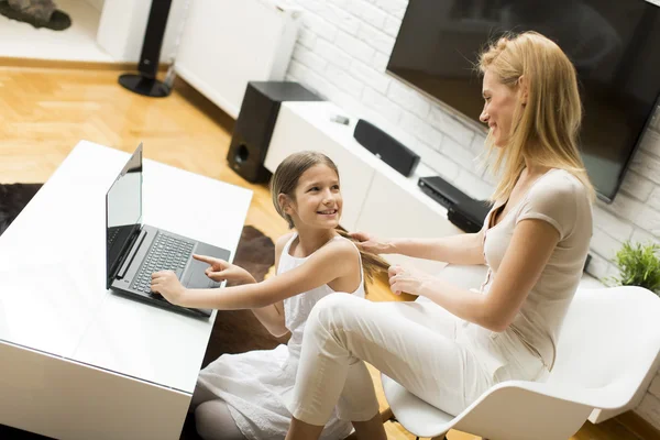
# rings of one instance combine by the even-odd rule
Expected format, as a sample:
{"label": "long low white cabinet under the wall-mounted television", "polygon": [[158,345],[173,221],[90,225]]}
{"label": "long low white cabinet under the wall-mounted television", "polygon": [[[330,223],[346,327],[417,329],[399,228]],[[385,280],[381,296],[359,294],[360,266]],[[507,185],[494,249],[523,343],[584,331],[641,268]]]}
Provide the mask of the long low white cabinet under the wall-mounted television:
{"label": "long low white cabinet under the wall-mounted television", "polygon": [[[265,158],[274,172],[289,154],[314,150],[337,164],[344,199],[341,224],[349,231],[380,237],[433,238],[462,233],[447,220],[447,210],[417,186],[422,175],[432,175],[424,165],[405,177],[375,157],[353,138],[356,118],[349,125],[332,122],[345,114],[331,102],[283,102]],[[444,264],[386,255],[392,263],[410,264],[438,272]]]}

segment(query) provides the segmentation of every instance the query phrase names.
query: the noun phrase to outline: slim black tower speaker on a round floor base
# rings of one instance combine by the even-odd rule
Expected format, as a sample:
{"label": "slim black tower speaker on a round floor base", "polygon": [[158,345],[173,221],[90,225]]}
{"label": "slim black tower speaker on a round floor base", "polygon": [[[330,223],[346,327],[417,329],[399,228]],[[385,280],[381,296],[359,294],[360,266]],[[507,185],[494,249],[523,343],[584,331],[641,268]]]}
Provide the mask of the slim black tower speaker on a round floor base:
{"label": "slim black tower speaker on a round floor base", "polygon": [[119,77],[119,84],[135,94],[164,98],[172,91],[168,86],[156,79],[170,4],[172,0],[152,0],[138,64],[140,74],[124,74]]}

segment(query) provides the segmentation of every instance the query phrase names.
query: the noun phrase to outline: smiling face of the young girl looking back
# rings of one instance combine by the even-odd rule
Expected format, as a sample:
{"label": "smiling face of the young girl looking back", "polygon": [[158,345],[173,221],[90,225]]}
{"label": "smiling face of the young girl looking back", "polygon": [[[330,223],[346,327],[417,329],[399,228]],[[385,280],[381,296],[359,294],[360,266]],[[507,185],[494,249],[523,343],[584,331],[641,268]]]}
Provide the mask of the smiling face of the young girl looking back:
{"label": "smiling face of the young girl looking back", "polygon": [[339,226],[343,200],[337,173],[327,165],[315,165],[298,179],[296,199],[289,216],[299,228],[334,229]]}

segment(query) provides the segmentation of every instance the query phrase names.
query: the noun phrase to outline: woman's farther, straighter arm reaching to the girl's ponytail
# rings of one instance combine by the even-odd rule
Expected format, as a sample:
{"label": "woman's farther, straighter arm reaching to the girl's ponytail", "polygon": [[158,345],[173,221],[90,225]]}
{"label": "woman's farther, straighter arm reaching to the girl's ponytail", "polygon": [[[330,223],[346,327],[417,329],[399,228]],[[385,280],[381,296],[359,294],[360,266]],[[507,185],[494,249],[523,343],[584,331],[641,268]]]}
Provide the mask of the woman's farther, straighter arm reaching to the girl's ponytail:
{"label": "woman's farther, straighter arm reaching to the girl's ponytail", "polygon": [[451,264],[485,264],[484,232],[443,237],[441,239],[385,239],[364,232],[352,233],[360,246],[374,254],[402,254]]}

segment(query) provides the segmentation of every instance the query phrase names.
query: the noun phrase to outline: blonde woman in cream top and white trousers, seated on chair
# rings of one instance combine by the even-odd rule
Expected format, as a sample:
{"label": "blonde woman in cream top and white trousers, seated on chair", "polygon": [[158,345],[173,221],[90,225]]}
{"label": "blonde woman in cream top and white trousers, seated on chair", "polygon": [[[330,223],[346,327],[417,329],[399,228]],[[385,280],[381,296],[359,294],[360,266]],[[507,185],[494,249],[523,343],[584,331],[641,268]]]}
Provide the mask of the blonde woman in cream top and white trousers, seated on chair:
{"label": "blonde woman in cream top and white trousers, seated on chair", "polygon": [[[386,439],[371,380],[354,377],[364,374],[353,369],[362,361],[453,415],[498,382],[540,380],[552,370],[592,235],[594,190],[576,145],[575,69],[557,44],[534,32],[498,40],[479,68],[480,119],[502,172],[483,229],[433,240],[354,237],[369,252],[486,264],[481,292],[393,266],[395,294],[429,300],[330,295],[319,301],[305,330],[287,439],[318,438],[340,398],[350,403],[351,420],[366,415],[371,439]],[[344,387],[346,381],[361,386]]]}

